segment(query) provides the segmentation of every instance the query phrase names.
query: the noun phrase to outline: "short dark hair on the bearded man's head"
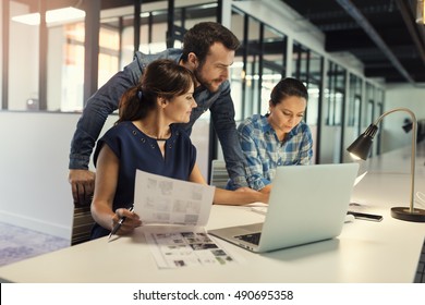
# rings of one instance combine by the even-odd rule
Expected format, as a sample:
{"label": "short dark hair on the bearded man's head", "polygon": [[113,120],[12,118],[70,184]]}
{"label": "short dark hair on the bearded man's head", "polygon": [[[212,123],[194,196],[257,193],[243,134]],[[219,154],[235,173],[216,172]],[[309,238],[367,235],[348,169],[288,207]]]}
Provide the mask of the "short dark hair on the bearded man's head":
{"label": "short dark hair on the bearded man's head", "polygon": [[221,42],[227,49],[235,51],[240,41],[234,34],[216,22],[201,22],[190,28],[183,38],[183,61],[187,60],[190,52],[194,52],[201,64],[207,58],[209,47]]}

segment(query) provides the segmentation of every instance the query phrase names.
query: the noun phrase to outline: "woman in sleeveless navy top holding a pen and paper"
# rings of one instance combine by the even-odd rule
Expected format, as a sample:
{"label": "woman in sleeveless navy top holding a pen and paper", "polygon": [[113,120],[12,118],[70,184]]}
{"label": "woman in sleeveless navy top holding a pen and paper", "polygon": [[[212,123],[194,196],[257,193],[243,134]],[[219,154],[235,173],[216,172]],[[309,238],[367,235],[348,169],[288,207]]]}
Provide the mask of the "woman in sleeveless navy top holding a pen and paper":
{"label": "woman in sleeveless navy top holding a pen and paper", "polygon": [[[190,121],[196,107],[194,76],[171,60],[153,61],[139,84],[124,93],[119,120],[97,143],[92,239],[108,235],[126,217],[118,234],[141,225],[133,205],[136,169],[168,178],[206,184],[197,164],[196,148],[179,124]],[[216,188],[214,203],[240,205],[267,202],[255,191]]]}

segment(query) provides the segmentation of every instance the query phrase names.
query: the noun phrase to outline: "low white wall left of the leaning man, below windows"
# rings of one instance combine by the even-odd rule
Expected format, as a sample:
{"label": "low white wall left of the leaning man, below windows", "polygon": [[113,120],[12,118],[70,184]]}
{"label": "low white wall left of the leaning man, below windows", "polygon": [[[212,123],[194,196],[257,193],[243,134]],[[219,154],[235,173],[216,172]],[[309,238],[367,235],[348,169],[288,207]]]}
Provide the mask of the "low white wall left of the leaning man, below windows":
{"label": "low white wall left of the leaning man, below windows", "polygon": [[70,239],[68,156],[78,118],[0,111],[0,221]]}

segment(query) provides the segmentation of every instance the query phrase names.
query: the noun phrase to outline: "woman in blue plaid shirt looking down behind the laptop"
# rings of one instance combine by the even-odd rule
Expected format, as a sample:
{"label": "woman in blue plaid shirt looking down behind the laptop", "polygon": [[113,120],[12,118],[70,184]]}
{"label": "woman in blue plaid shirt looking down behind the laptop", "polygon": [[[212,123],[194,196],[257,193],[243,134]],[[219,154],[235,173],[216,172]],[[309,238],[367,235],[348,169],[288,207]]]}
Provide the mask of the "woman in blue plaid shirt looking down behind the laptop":
{"label": "woman in blue plaid shirt looking down behind the laptop", "polygon": [[271,90],[269,112],[255,114],[239,125],[251,188],[268,194],[277,167],[312,162],[312,132],[303,121],[307,99],[303,83],[295,78],[281,80]]}

